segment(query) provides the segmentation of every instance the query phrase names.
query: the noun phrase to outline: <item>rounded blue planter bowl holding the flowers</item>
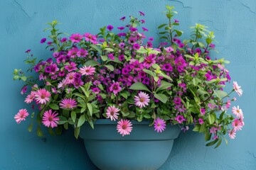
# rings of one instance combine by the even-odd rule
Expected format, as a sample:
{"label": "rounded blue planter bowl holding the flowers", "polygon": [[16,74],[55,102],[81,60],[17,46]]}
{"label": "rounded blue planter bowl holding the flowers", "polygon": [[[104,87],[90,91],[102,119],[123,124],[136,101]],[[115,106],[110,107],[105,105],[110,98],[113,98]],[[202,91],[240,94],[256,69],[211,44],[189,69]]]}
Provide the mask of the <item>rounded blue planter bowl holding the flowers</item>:
{"label": "rounded blue planter bowl holding the flowers", "polygon": [[122,137],[117,122],[97,120],[95,129],[82,126],[80,137],[92,162],[102,170],[159,169],[166,162],[181,128],[168,125],[162,133],[149,127],[148,121],[132,121],[132,133]]}

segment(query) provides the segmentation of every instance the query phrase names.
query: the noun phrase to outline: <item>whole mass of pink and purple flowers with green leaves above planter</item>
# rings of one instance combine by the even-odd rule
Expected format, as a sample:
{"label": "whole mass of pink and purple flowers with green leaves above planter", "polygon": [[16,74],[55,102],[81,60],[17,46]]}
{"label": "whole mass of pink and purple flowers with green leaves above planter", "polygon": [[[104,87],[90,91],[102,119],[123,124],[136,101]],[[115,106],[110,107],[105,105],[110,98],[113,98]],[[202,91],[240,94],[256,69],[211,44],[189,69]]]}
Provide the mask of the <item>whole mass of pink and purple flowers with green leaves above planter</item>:
{"label": "whole mass of pink and purple flowers with green leaves above planter", "polygon": [[[95,120],[110,119],[117,121],[117,132],[124,136],[132,132],[130,120],[146,119],[156,132],[163,132],[166,124],[178,124],[183,131],[193,125],[193,131],[203,132],[210,141],[207,146],[218,147],[222,139],[228,142],[227,133],[234,139],[244,122],[239,106],[228,113],[235,101],[230,94],[235,91],[242,96],[242,89],[233,81],[230,93],[224,91],[230,82],[224,65],[228,61],[210,57],[215,50],[213,32],[196,24],[191,38],[181,41],[183,32],[177,29],[174,7],[166,6],[164,13],[168,22],[158,27],[163,41],[157,47],[153,47],[154,38],[140,32],[148,31],[142,26],[144,19],[133,16],[127,25],[105,26],[97,35],[75,33],[69,38],[58,32],[57,21],[48,23],[46,48],[53,57],[36,62],[27,50],[25,63],[36,78],[14,70],[14,80],[26,82],[21,90],[27,94],[25,102],[33,103],[33,109],[38,106],[31,114],[38,121],[38,135],[43,135],[41,124],[57,134],[73,125],[78,138],[85,122],[94,128]],[[21,109],[14,118],[21,123],[28,115]]]}

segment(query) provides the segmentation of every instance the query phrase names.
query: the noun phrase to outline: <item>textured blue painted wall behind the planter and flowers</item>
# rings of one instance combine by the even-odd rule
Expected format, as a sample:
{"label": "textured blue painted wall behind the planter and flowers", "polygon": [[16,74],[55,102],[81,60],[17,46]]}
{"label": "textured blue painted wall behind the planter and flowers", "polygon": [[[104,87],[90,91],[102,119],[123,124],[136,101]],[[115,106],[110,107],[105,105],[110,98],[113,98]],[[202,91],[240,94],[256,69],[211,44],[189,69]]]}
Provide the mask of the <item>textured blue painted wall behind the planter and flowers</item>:
{"label": "textured blue painted wall behind the planter and flowers", "polygon": [[[203,135],[181,133],[174,143],[166,164],[161,170],[215,170],[256,169],[256,1],[255,0],[1,0],[0,1],[0,169],[96,169],[92,165],[82,140],[75,140],[73,132],[45,138],[28,133],[29,121],[16,125],[14,115],[23,108],[25,96],[20,95],[23,84],[12,80],[14,68],[23,66],[25,50],[32,49],[38,57],[49,57],[40,40],[46,37],[45,23],[58,19],[60,29],[66,33],[97,33],[97,28],[112,24],[119,26],[122,16],[146,13],[146,35],[158,38],[156,26],[165,22],[161,13],[165,5],[176,6],[184,30],[202,23],[216,35],[219,54],[230,60],[231,77],[238,81],[244,94],[238,98],[245,115],[245,127],[236,140],[218,149],[205,147]],[[231,85],[230,85],[231,87]],[[36,123],[35,123],[36,124]],[[159,153],[160,154],[160,153]],[[117,155],[122,159],[122,155]],[[156,153],[157,157],[157,153]]]}

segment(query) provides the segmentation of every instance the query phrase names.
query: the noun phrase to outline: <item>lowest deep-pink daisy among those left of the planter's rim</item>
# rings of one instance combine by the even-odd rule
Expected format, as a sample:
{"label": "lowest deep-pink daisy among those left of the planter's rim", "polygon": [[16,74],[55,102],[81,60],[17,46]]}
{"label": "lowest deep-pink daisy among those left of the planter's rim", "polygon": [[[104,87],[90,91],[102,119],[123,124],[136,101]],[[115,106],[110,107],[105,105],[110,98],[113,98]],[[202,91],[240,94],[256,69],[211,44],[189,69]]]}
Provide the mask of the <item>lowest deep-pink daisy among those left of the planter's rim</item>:
{"label": "lowest deep-pink daisy among those left of the planter's rim", "polygon": [[43,120],[42,123],[43,125],[45,125],[46,127],[57,127],[58,125],[58,120],[60,120],[60,118],[57,118],[56,116],[58,115],[58,113],[52,112],[52,110],[50,109],[49,111],[46,111],[45,113],[43,113]]}

